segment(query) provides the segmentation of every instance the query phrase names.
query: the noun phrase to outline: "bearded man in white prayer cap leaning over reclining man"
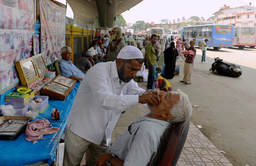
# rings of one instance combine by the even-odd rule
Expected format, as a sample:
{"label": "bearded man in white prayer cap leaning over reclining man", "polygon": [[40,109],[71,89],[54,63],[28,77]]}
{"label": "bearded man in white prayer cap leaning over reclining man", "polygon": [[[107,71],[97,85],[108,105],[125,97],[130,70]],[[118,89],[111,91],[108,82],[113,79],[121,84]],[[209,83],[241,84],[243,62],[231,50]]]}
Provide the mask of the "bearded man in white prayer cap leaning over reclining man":
{"label": "bearded man in white prayer cap leaning over reclining man", "polygon": [[114,62],[98,63],[87,71],[67,119],[63,166],[94,164],[110,146],[111,133],[121,112],[139,103],[160,104],[159,93],[139,88],[133,78],[143,55],[131,45]]}

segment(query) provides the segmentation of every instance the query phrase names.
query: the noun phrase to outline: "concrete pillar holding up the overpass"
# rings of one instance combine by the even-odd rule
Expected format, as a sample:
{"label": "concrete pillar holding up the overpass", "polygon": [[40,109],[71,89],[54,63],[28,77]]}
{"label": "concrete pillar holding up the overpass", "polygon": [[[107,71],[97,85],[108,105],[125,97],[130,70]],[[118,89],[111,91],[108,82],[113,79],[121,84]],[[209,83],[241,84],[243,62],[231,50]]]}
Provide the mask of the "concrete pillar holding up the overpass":
{"label": "concrete pillar holding up the overpass", "polygon": [[114,27],[114,19],[119,0],[96,0],[101,27]]}

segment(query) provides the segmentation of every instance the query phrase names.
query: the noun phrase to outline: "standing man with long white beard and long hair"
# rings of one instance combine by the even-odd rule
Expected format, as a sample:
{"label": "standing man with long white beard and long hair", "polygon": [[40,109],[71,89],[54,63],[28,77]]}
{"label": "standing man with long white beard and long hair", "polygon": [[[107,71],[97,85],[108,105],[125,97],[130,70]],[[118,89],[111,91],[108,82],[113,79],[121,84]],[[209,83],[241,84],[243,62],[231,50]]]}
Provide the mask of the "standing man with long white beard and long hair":
{"label": "standing man with long white beard and long hair", "polygon": [[121,28],[114,27],[109,34],[109,45],[106,52],[107,62],[114,62],[117,60],[117,55],[120,50],[125,47],[125,43],[122,41]]}

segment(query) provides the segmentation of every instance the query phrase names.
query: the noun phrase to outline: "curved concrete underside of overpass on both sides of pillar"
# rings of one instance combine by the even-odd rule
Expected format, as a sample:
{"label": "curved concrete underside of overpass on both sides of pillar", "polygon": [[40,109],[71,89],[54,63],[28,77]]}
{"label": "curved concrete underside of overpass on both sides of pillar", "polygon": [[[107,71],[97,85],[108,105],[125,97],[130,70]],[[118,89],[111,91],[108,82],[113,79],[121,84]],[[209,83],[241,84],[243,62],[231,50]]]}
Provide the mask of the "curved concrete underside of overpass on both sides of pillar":
{"label": "curved concrete underside of overpass on both sides of pillar", "polygon": [[[119,0],[116,16],[131,9],[143,0]],[[94,23],[94,16],[98,15],[96,0],[67,0],[74,12],[74,20],[79,25],[86,26],[87,23]]]}

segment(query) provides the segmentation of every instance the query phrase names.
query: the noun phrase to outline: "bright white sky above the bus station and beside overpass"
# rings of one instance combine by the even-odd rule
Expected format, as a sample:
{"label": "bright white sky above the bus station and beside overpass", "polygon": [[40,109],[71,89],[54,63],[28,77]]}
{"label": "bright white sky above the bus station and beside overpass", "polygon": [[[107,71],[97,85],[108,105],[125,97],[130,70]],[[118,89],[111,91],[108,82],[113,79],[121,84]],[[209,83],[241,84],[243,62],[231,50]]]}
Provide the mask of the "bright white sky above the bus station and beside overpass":
{"label": "bright white sky above the bus station and beside overpass", "polygon": [[[66,0],[57,1],[66,4]],[[175,19],[177,22],[177,19],[182,20],[183,16],[186,19],[191,16],[204,17],[206,20],[224,5],[235,8],[244,5],[249,6],[250,2],[252,2],[252,6],[256,6],[255,0],[143,0],[129,11],[122,13],[122,15],[127,23],[132,24],[136,21],[161,23],[161,19],[169,19],[171,22]],[[67,7],[67,16],[74,17],[69,5]]]}

